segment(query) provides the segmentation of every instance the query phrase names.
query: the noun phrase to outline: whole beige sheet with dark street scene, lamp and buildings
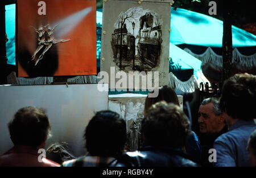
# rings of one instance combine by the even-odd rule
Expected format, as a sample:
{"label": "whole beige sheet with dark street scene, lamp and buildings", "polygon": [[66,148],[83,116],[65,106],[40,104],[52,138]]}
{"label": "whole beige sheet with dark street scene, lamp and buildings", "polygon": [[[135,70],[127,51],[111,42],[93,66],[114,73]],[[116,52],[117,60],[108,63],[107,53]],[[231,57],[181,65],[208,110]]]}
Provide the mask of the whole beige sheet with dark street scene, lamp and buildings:
{"label": "whole beige sheet with dark street scene, lamp and buildings", "polygon": [[[170,2],[108,0],[102,9],[101,71],[131,78],[147,78],[146,86],[168,84],[170,52]],[[120,72],[120,73],[119,73]],[[126,74],[126,75],[124,75]],[[146,75],[145,75],[146,74]],[[119,78],[121,78],[119,77]],[[119,80],[110,77],[109,88],[116,88]],[[122,87],[129,86],[127,80]]]}

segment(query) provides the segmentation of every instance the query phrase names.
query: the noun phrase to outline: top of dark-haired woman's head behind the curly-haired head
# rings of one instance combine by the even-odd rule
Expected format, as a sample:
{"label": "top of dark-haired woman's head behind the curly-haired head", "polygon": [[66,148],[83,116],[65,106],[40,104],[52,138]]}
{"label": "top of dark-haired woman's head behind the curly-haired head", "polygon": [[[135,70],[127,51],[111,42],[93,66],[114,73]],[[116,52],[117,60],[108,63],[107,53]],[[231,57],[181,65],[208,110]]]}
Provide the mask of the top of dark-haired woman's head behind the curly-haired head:
{"label": "top of dark-haired woman's head behind the curly-haired head", "polygon": [[[152,92],[154,91],[151,91],[151,93]],[[158,103],[159,101],[166,101],[166,103],[174,103],[176,105],[180,105],[175,91],[172,90],[171,87],[163,86],[159,87],[159,93],[158,96],[156,96],[156,98],[149,98],[147,96],[145,100],[144,113],[147,112],[151,105]]]}

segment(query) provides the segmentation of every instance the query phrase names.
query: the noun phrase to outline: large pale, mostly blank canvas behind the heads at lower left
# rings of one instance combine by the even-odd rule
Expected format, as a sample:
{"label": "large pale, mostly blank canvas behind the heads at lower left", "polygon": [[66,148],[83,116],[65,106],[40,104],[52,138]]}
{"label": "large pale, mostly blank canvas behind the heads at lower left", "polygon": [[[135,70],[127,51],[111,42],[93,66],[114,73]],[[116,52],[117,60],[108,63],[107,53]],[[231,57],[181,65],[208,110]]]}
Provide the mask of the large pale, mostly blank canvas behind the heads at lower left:
{"label": "large pale, mostly blank canvas behind the heads at lower left", "polygon": [[108,109],[108,92],[98,91],[97,84],[0,86],[0,98],[0,154],[13,146],[7,123],[19,108],[46,108],[52,125],[46,148],[55,142],[67,142],[75,156],[85,154],[82,136],[90,118]]}

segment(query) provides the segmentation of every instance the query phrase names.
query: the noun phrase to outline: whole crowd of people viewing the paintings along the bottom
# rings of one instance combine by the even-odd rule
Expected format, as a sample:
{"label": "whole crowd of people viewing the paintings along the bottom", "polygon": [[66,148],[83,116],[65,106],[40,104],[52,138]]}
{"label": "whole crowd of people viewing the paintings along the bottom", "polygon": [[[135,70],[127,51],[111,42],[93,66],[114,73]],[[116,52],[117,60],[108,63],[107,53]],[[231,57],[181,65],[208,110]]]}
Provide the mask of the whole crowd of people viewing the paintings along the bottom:
{"label": "whole crowd of people viewing the paintings along the bottom", "polygon": [[180,107],[172,88],[160,87],[156,98],[146,98],[140,130],[142,145],[137,151],[125,151],[125,120],[113,111],[99,111],[85,127],[87,154],[60,164],[47,158],[39,162],[38,150],[46,146],[51,125],[43,109],[25,107],[9,122],[14,147],[0,156],[0,166],[256,166],[255,105],[256,76],[230,77],[223,84],[220,98],[201,102],[198,137],[186,114],[189,108]]}

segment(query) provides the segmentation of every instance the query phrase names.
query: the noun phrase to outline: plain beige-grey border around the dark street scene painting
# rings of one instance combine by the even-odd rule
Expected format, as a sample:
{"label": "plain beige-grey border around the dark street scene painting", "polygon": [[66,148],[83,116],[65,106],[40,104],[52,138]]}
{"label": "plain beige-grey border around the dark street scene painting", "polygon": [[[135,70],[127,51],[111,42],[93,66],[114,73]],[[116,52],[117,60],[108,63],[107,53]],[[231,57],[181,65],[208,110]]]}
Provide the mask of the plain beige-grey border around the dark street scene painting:
{"label": "plain beige-grey border around the dark street scene painting", "polygon": [[[161,29],[162,29],[163,41],[162,41],[162,52],[160,54],[160,63],[159,63],[159,67],[155,67],[155,69],[151,70],[151,71],[160,72],[159,85],[162,86],[162,85],[168,84],[168,57],[169,57],[169,39],[170,39],[169,28],[170,28],[170,11],[171,11],[170,7],[171,6],[167,6],[166,3],[143,2],[142,5],[138,5],[137,2],[123,2],[123,1],[120,1],[120,3],[117,3],[117,1],[108,1],[104,3],[101,59],[104,58],[105,60],[104,61],[101,60],[101,71],[107,71],[110,74],[110,66],[116,66],[115,63],[113,62],[114,54],[113,54],[110,41],[112,41],[112,34],[114,32],[113,26],[115,22],[117,22],[118,15],[121,14],[122,11],[125,12],[131,7],[140,7],[140,6],[143,8],[143,10],[148,9],[150,11],[154,11],[158,15],[162,15],[161,17],[163,19],[163,27]],[[115,9],[115,11],[113,11],[113,9]],[[116,9],[119,9],[119,11],[116,11]],[[139,24],[135,24],[135,28],[137,27],[138,29],[138,25]],[[129,30],[131,33],[131,25],[129,26]],[[135,31],[132,31],[132,33],[134,32]],[[136,36],[135,34],[133,35]],[[112,86],[112,85],[110,84],[109,86]]]}

